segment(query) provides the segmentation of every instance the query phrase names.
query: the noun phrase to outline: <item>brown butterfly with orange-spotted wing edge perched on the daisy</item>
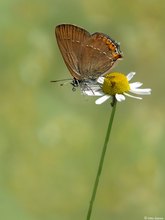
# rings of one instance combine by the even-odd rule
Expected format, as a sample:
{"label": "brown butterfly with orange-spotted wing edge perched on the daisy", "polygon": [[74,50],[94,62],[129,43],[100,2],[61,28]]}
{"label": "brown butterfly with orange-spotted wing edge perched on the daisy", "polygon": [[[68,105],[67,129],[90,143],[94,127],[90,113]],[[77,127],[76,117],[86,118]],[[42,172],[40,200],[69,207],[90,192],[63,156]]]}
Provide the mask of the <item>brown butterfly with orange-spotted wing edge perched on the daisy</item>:
{"label": "brown butterfly with orange-spotted wing edge perched on the daisy", "polygon": [[55,35],[62,57],[73,76],[73,88],[95,81],[122,58],[119,44],[103,33],[90,34],[72,24],[61,24]]}

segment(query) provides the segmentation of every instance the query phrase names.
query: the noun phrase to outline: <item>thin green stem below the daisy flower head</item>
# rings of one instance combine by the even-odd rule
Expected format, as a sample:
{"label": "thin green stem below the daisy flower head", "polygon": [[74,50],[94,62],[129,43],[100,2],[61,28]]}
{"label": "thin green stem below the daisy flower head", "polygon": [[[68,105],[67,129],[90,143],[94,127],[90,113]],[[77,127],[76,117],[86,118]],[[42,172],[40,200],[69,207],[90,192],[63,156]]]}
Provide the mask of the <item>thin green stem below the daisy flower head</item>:
{"label": "thin green stem below the daisy flower head", "polygon": [[89,203],[89,208],[88,208],[88,213],[87,213],[86,220],[90,220],[90,218],[91,218],[93,203],[94,203],[94,200],[95,200],[95,197],[96,197],[96,192],[97,192],[97,188],[98,188],[98,184],[99,184],[99,179],[100,179],[100,175],[101,175],[102,168],[103,168],[104,157],[105,157],[105,153],[106,153],[106,150],[107,150],[109,137],[110,137],[110,134],[111,134],[113,119],[114,119],[115,110],[116,110],[116,103],[117,103],[117,101],[114,99],[112,112],[111,112],[110,119],[109,119],[108,129],[107,129],[107,133],[106,133],[105,140],[104,140],[104,145],[103,145],[103,149],[102,149],[102,153],[101,153],[101,158],[100,158],[100,162],[99,162],[99,166],[98,166],[98,171],[97,171],[97,175],[96,175],[96,179],[95,179],[95,183],[94,183],[94,187],[93,187],[91,200],[90,200],[90,203]]}

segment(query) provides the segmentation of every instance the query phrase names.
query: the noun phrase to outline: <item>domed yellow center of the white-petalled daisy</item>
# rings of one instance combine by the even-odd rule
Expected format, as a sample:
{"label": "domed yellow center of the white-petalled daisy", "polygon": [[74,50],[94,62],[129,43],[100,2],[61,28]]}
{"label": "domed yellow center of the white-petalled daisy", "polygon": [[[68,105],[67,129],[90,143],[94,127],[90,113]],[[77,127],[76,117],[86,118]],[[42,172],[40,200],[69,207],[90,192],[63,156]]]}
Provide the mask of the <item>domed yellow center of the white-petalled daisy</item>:
{"label": "domed yellow center of the white-petalled daisy", "polygon": [[122,73],[108,73],[104,76],[103,92],[109,95],[122,94],[130,90],[127,77]]}

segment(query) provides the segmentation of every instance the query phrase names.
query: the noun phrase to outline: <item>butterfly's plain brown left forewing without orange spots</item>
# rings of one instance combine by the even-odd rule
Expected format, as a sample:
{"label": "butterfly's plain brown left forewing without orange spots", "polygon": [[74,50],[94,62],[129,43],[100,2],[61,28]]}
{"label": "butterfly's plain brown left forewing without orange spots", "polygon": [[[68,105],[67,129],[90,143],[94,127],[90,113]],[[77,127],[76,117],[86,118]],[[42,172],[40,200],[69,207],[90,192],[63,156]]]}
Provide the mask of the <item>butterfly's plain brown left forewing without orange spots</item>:
{"label": "butterfly's plain brown left forewing without orange spots", "polygon": [[62,57],[71,75],[81,80],[79,53],[83,42],[89,38],[90,34],[80,27],[61,24],[56,27],[55,35]]}

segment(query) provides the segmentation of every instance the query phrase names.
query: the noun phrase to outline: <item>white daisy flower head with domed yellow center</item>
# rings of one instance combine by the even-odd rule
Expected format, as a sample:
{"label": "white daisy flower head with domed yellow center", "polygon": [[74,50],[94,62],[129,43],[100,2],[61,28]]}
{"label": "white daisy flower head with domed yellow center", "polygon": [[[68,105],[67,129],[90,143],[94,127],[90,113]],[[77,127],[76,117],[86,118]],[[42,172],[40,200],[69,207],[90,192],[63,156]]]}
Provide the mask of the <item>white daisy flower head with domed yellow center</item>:
{"label": "white daisy flower head with domed yellow center", "polygon": [[150,88],[140,88],[142,83],[129,83],[134,75],[135,72],[130,72],[127,76],[118,72],[108,73],[99,77],[96,84],[89,83],[89,85],[83,89],[83,93],[88,96],[101,96],[101,98],[98,98],[95,101],[97,105],[102,104],[110,97],[115,97],[119,102],[124,101],[125,96],[129,96],[135,99],[142,99],[142,97],[134,96],[130,93],[137,95],[150,95]]}

